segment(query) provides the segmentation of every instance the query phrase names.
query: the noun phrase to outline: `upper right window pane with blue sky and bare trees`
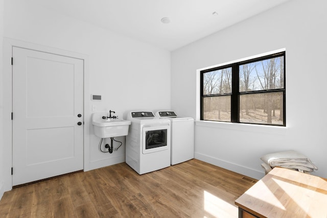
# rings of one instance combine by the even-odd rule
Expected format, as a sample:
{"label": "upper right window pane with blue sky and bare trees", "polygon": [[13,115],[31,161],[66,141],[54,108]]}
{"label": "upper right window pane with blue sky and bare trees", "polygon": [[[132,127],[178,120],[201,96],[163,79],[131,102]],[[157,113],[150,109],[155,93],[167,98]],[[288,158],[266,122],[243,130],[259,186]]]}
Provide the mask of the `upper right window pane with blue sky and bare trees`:
{"label": "upper right window pane with blue sky and bare trees", "polygon": [[240,92],[284,88],[284,56],[240,65]]}

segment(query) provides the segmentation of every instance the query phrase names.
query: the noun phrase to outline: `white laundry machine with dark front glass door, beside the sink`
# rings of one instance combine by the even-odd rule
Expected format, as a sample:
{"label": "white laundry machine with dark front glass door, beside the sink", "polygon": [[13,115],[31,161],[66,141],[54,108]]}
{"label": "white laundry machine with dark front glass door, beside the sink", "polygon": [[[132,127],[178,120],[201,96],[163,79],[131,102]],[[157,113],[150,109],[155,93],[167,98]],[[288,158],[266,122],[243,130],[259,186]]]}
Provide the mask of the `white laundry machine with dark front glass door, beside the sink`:
{"label": "white laundry machine with dark front glass door, beside the sink", "polygon": [[151,111],[132,111],[127,120],[126,163],[140,175],[170,166],[170,120]]}

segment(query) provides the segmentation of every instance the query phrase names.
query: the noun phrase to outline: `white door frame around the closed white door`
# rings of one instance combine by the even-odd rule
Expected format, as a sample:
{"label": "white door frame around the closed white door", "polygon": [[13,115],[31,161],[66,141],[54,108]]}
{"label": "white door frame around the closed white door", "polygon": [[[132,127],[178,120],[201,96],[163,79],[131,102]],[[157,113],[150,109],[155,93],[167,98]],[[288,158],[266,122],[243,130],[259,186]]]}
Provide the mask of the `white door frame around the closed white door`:
{"label": "white door frame around the closed white door", "polygon": [[[55,55],[61,55],[71,58],[82,59],[84,62],[84,93],[83,93],[83,110],[84,110],[84,149],[83,149],[83,168],[84,171],[89,170],[89,117],[90,117],[90,108],[89,108],[89,58],[88,55],[80,54],[76,52],[56,49],[54,47],[34,44],[30,42],[20,41],[16,39],[4,37],[3,41],[3,166],[4,166],[4,191],[12,189],[12,47],[21,47],[23,49],[35,50],[39,52],[46,52]],[[15,60],[13,60],[14,62]]]}

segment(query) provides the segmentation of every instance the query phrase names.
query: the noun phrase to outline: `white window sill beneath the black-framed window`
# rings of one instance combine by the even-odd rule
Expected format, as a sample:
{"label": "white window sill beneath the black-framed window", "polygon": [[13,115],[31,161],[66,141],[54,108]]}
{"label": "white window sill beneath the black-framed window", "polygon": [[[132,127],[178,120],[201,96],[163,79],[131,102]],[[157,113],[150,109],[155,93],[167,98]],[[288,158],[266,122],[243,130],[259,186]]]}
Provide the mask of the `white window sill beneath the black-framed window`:
{"label": "white window sill beneath the black-framed window", "polygon": [[217,121],[207,121],[207,120],[196,120],[195,125],[199,127],[209,127],[209,128],[217,128],[217,129],[224,129],[224,130],[246,131],[246,132],[255,132],[255,133],[278,134],[278,135],[286,135],[289,129],[288,127],[280,127],[280,126],[237,124],[237,123],[227,123],[227,122],[217,122]]}

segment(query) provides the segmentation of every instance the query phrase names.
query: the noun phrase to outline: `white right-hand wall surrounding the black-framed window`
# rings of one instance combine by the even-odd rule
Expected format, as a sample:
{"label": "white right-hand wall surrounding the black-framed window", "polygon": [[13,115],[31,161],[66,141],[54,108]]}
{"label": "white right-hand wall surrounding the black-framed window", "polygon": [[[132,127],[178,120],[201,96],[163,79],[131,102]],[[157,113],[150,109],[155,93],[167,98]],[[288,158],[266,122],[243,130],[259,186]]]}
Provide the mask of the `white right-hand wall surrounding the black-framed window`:
{"label": "white right-hand wall surrounding the black-framed window", "polygon": [[172,52],[172,109],[195,118],[197,69],[286,49],[287,127],[197,122],[196,158],[261,178],[262,155],[296,150],[327,177],[326,8],[293,0]]}

